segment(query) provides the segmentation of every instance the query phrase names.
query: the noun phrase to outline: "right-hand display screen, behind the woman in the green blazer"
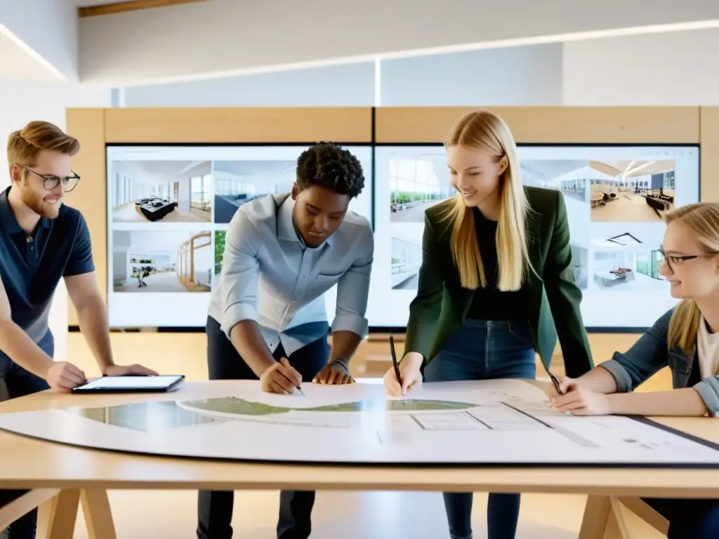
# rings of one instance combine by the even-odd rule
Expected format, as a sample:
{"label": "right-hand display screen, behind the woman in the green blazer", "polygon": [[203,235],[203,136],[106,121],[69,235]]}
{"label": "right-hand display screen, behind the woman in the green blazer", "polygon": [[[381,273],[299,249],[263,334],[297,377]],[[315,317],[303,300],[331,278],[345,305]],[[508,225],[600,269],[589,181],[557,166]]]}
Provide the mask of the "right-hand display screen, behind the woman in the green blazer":
{"label": "right-hand display screen, behind the woman in the green blazer", "polygon": [[[646,328],[676,304],[659,275],[665,211],[699,201],[699,148],[521,146],[524,185],[560,190],[589,328]],[[424,211],[454,195],[444,148],[375,148],[372,326],[406,326]]]}

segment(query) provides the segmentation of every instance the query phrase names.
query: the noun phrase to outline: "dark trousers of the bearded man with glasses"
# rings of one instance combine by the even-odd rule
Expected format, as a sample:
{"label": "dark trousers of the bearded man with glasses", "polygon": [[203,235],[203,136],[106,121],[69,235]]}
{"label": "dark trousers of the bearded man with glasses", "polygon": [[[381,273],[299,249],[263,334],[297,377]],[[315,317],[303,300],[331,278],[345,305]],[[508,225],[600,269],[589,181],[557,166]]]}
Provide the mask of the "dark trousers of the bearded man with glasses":
{"label": "dark trousers of the bearded man with glasses", "polygon": [[[47,331],[38,343],[45,354],[52,357],[55,354],[55,340],[52,333]],[[40,377],[15,364],[12,359],[0,352],[0,378],[4,380],[9,398],[24,397],[40,391],[50,389],[47,382]],[[25,494],[27,490],[0,490],[0,507],[9,504],[14,499]],[[5,530],[3,538],[6,539],[35,539],[37,530],[37,509],[25,513]]]}

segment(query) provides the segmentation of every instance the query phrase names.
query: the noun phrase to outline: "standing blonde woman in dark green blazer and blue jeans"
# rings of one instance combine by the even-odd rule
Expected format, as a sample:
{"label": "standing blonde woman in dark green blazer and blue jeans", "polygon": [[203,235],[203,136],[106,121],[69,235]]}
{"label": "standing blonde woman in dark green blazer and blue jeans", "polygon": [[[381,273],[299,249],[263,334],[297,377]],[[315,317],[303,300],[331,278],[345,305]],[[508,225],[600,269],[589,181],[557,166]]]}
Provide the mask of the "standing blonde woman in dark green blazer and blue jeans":
{"label": "standing blonde woman in dark green blazer and blue jeans", "polygon": [[[411,391],[423,369],[428,382],[534,378],[557,336],[567,374],[589,371],[564,195],[523,187],[510,129],[490,111],[457,121],[444,145],[457,195],[426,211],[402,383],[390,369],[388,393]],[[489,539],[515,536],[519,502],[490,494]],[[445,493],[444,505],[452,539],[471,538],[472,494]]]}

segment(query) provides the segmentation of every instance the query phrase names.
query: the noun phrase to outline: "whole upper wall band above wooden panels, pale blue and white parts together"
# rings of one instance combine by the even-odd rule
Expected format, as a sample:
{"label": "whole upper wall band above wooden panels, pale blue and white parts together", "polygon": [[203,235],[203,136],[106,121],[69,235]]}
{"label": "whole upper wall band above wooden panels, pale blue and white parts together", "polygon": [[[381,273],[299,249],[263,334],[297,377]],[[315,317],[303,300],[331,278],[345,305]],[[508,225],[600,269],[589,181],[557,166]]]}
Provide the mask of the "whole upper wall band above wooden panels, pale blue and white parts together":
{"label": "whole upper wall band above wooden panels, pale blue and white parts together", "polygon": [[[719,29],[383,60],[382,106],[712,106]],[[374,64],[124,90],[125,106],[370,106]]]}

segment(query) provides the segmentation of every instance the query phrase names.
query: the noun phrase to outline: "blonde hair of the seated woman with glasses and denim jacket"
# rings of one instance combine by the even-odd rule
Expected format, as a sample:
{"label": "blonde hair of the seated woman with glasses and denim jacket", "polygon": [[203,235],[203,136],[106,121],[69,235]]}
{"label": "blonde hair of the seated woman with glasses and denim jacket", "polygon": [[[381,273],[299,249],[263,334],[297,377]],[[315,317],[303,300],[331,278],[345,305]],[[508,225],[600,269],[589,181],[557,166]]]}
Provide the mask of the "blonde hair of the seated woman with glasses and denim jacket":
{"label": "blonde hair of the seated woman with glasses and denim jacket", "polygon": [[[682,223],[695,234],[704,254],[719,254],[719,203],[700,202],[664,213],[664,222],[668,225],[672,221]],[[667,344],[670,349],[679,346],[684,354],[693,353],[697,343],[700,315],[695,300],[686,299],[679,302],[669,321]]]}

